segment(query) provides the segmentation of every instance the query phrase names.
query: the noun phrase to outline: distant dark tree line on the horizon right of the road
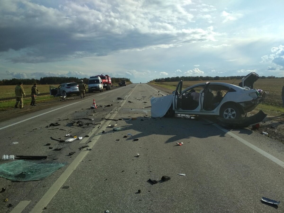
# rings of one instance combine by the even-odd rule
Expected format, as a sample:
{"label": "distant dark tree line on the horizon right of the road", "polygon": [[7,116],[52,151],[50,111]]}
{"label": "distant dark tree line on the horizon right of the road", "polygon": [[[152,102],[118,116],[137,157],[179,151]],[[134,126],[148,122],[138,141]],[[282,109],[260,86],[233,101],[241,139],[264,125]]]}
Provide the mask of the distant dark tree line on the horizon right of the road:
{"label": "distant dark tree line on the horizon right of the road", "polygon": [[[237,80],[242,79],[245,76],[228,76],[228,77],[220,77],[220,76],[176,76],[176,77],[167,77],[167,78],[156,78],[151,82],[178,82],[180,80],[183,81],[212,81],[212,80]],[[259,78],[284,78],[284,77],[275,77],[275,76],[261,76]]]}

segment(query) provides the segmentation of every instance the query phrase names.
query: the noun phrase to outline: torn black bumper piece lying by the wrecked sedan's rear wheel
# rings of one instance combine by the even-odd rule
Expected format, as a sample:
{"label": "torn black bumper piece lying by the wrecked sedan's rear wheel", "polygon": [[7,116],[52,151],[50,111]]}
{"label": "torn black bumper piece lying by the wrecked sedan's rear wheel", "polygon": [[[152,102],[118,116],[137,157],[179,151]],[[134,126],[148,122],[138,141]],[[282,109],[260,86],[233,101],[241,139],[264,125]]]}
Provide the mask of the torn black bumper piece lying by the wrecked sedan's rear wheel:
{"label": "torn black bumper piece lying by the wrecked sedan's rear wheel", "polygon": [[242,119],[217,118],[217,119],[219,120],[219,125],[223,127],[246,128],[250,125],[262,122],[266,118],[266,116],[267,114],[265,114],[262,110],[260,110],[257,114],[247,118],[242,118]]}

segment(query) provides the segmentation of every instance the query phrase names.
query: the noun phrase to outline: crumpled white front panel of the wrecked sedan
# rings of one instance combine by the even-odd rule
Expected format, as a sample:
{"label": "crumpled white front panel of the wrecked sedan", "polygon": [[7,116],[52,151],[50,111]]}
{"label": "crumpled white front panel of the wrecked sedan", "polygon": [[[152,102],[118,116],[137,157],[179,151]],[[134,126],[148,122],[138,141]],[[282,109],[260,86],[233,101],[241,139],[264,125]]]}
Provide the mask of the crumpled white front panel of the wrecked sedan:
{"label": "crumpled white front panel of the wrecked sedan", "polygon": [[163,117],[172,105],[174,95],[151,98],[151,117]]}

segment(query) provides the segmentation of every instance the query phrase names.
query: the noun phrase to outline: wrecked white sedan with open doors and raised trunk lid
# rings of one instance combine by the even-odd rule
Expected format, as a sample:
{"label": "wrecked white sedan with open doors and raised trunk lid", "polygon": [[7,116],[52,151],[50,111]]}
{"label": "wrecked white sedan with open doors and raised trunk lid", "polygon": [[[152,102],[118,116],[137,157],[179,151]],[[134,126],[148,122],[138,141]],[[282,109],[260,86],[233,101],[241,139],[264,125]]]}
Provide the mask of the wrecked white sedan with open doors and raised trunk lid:
{"label": "wrecked white sedan with open doors and raised trunk lid", "polygon": [[182,81],[173,94],[151,98],[151,116],[172,117],[175,114],[214,115],[220,118],[239,119],[252,111],[265,97],[265,92],[253,88],[259,78],[251,72],[239,86],[206,82],[182,90]]}

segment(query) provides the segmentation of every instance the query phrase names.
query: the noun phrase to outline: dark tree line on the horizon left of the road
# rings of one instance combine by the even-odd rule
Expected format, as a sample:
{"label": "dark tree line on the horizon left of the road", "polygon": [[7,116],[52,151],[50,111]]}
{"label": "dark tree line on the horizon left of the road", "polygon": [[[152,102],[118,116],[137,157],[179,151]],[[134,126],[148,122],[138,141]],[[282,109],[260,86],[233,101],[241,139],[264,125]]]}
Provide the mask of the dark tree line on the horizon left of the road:
{"label": "dark tree line on the horizon left of the road", "polygon": [[[127,82],[130,82],[129,78],[111,78],[112,84],[119,83],[122,79],[125,79]],[[42,77],[40,79],[18,79],[18,78],[12,78],[12,79],[3,79],[0,80],[0,85],[17,85],[19,82],[23,82],[24,85],[33,85],[34,83],[37,84],[61,84],[61,83],[69,83],[69,82],[76,82],[79,83],[80,80],[83,80],[85,84],[88,83],[89,78],[77,78],[77,77]]]}

